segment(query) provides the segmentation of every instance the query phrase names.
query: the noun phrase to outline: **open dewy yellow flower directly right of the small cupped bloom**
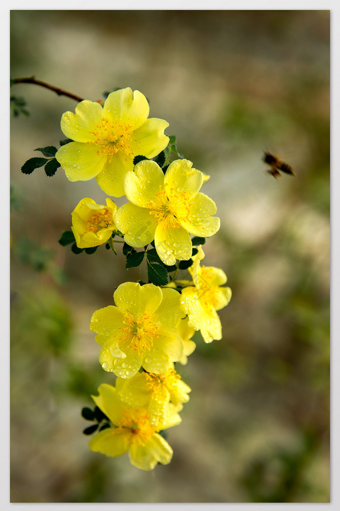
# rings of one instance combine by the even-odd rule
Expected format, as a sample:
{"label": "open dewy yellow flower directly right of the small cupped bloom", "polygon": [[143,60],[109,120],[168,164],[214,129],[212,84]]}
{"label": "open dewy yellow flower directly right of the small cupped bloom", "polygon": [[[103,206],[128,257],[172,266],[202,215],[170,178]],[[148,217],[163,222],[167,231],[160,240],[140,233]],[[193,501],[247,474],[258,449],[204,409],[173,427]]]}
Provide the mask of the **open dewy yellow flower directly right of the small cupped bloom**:
{"label": "open dewy yellow flower directly right of the small cupped bloom", "polygon": [[158,255],[169,266],[176,259],[190,259],[190,234],[212,236],[220,226],[219,218],[211,216],[215,202],[199,192],[203,174],[191,167],[191,161],[175,160],[164,175],[155,161],[140,161],[125,176],[130,202],[115,215],[126,243],[143,247],[154,239]]}

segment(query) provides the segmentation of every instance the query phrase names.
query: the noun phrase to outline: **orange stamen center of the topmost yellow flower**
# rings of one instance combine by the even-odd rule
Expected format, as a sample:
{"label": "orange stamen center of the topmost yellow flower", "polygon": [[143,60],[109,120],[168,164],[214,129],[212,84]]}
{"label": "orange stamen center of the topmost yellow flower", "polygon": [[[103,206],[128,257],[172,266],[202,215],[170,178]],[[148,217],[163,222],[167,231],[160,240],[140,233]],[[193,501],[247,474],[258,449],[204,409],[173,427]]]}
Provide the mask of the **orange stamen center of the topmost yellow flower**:
{"label": "orange stamen center of the topmost yellow flower", "polygon": [[124,124],[118,117],[114,120],[102,118],[102,124],[97,124],[94,131],[90,131],[94,135],[94,140],[87,144],[96,144],[100,147],[97,154],[107,154],[109,163],[112,156],[119,151],[125,155],[125,160],[133,156],[131,148],[131,132],[133,126]]}

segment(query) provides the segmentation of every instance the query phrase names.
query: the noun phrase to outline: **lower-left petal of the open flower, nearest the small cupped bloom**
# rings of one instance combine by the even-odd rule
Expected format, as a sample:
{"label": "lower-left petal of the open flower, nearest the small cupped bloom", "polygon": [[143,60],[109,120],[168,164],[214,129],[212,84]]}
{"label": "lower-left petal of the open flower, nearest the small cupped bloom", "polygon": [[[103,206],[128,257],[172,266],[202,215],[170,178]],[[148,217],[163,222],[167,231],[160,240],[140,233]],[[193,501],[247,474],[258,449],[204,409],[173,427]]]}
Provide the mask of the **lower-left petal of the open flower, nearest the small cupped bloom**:
{"label": "lower-left petal of the open flower, nearest the small cupped bloom", "polygon": [[118,208],[114,221],[125,243],[132,247],[144,247],[154,239],[157,222],[144,207],[127,202]]}

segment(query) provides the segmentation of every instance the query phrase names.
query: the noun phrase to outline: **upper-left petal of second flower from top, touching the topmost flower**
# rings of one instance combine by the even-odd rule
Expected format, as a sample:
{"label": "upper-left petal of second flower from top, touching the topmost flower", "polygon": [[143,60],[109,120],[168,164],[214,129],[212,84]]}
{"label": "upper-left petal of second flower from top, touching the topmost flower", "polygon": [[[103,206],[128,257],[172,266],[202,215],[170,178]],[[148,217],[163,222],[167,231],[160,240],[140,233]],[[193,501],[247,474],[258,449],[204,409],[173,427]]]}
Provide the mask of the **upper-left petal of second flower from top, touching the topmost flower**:
{"label": "upper-left petal of second flower from top, touching the topmost flower", "polygon": [[125,176],[126,198],[140,207],[147,207],[155,195],[163,190],[164,174],[155,161],[143,160],[135,165],[133,172]]}

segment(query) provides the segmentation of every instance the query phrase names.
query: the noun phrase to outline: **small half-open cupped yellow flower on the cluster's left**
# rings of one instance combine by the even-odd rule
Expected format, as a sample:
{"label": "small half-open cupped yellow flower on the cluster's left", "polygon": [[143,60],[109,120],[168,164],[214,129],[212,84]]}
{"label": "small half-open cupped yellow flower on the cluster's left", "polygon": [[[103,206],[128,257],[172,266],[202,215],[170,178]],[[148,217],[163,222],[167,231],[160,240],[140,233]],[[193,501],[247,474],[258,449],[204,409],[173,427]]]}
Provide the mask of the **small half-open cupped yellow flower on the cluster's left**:
{"label": "small half-open cupped yellow flower on the cluster's left", "polygon": [[79,248],[96,247],[105,243],[116,228],[115,201],[107,198],[106,206],[93,199],[82,199],[72,212],[72,231]]}

